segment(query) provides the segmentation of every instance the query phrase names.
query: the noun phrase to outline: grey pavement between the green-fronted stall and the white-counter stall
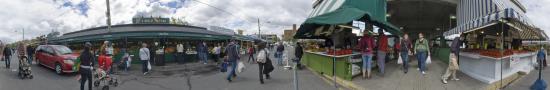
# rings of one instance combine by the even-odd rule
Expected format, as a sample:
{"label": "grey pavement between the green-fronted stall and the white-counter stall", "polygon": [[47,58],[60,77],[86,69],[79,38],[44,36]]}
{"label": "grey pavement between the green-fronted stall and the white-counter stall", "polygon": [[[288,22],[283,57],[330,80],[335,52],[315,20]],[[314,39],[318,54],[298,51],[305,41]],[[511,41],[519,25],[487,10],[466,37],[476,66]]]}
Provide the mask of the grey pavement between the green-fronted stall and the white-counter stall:
{"label": "grey pavement between the green-fronted stall and the white-counter stall", "polygon": [[417,64],[416,60],[412,60],[409,63],[409,72],[405,74],[401,66],[397,65],[397,61],[393,60],[386,63],[384,77],[377,75],[378,69],[374,68],[371,79],[363,80],[359,76],[352,82],[368,90],[478,90],[488,85],[459,72],[457,72],[459,81],[449,81],[447,84],[443,84],[441,75],[447,68],[447,64],[433,59],[433,63],[427,66],[428,70],[425,76],[417,70]]}

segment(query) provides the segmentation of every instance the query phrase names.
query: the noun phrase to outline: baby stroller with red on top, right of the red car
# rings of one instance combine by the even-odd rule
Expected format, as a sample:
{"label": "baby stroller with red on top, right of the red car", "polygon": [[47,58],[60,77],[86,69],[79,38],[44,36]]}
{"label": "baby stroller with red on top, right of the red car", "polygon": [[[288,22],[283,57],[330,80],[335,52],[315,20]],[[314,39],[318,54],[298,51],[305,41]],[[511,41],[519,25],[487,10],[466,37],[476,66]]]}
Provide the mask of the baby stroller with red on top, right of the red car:
{"label": "baby stroller with red on top, right of the red car", "polygon": [[118,86],[118,79],[109,74],[112,62],[110,57],[99,56],[99,66],[93,72],[94,86],[98,87],[103,83],[102,90],[109,90],[109,85]]}

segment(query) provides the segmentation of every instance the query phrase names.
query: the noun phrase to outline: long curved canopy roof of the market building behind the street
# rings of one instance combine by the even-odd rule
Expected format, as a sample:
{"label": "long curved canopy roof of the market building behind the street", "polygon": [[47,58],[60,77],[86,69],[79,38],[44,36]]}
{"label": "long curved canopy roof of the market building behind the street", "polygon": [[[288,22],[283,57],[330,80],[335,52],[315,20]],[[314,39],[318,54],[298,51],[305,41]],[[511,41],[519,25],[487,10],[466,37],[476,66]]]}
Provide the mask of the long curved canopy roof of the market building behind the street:
{"label": "long curved canopy roof of the market building behind the street", "polygon": [[190,40],[227,40],[232,36],[208,31],[206,28],[174,24],[124,24],[96,27],[63,34],[51,42],[85,42],[122,38],[179,38]]}

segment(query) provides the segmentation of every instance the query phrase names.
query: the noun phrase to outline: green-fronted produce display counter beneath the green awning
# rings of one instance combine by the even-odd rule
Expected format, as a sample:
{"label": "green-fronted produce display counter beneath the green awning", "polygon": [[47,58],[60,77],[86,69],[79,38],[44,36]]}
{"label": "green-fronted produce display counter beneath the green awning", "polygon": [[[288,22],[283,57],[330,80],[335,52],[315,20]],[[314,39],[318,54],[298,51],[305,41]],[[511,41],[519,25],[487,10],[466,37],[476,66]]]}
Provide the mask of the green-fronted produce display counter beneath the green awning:
{"label": "green-fronted produce display counter beneath the green awning", "polygon": [[[302,56],[302,64],[313,69],[315,72],[332,76],[332,70],[335,69],[336,76],[345,80],[351,80],[352,64],[360,63],[357,60],[352,60],[354,55],[361,55],[360,53],[353,53],[348,55],[328,55],[325,52],[309,52],[306,51]],[[333,57],[336,58],[336,68],[333,68]]]}

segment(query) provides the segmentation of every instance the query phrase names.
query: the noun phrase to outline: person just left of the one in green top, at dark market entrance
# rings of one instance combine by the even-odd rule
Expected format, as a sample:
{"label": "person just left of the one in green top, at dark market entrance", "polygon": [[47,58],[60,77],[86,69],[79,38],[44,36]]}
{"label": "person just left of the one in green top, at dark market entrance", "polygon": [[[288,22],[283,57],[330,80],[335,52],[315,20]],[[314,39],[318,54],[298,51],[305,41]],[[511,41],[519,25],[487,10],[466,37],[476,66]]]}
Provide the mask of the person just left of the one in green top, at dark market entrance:
{"label": "person just left of the one in green top, at dark market entrance", "polygon": [[411,40],[409,39],[408,34],[403,34],[403,38],[399,41],[399,44],[396,45],[401,55],[401,60],[403,61],[403,72],[406,74],[409,71],[409,53],[411,53]]}

